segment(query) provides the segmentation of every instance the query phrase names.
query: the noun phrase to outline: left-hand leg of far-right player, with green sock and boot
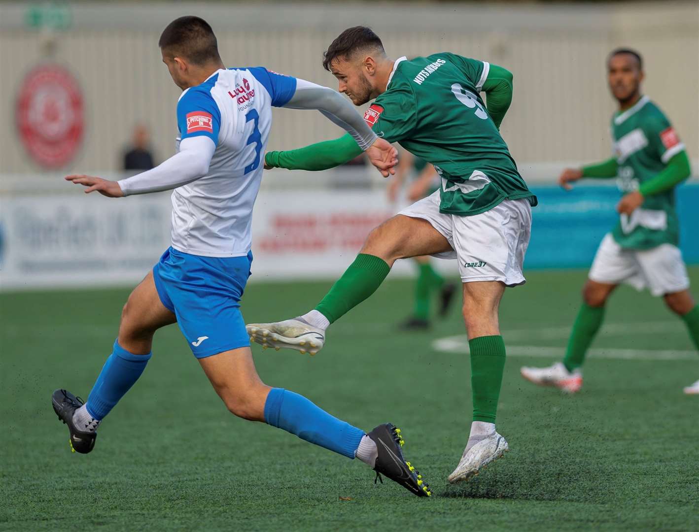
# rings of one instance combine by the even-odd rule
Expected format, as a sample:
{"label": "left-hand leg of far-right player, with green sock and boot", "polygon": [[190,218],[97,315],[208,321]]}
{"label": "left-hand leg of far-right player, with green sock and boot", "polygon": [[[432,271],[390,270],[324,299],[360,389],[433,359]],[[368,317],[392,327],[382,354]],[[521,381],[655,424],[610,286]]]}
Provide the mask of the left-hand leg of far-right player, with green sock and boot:
{"label": "left-hand leg of far-right player, with green sock and boot", "polygon": [[563,361],[542,368],[522,367],[519,370],[521,376],[540,386],[555,386],[568,393],[578,392],[582,387],[580,367],[602,325],[607,300],[617,286],[588,279],[582,288],[583,305],[573,324]]}

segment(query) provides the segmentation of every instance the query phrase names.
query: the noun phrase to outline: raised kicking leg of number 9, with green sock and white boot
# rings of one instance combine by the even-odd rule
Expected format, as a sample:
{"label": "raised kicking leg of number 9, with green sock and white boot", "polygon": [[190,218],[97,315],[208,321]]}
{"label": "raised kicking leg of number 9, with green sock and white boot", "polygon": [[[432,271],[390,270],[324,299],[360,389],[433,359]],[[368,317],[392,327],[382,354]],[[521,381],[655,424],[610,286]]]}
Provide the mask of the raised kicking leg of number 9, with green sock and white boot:
{"label": "raised kicking leg of number 9, with green sock and white boot", "polygon": [[263,347],[315,355],[324,346],[327,327],[372,295],[396,260],[451,250],[428,221],[398,214],[369,233],[359,256],[316,309],[291,320],[250,323],[247,332]]}

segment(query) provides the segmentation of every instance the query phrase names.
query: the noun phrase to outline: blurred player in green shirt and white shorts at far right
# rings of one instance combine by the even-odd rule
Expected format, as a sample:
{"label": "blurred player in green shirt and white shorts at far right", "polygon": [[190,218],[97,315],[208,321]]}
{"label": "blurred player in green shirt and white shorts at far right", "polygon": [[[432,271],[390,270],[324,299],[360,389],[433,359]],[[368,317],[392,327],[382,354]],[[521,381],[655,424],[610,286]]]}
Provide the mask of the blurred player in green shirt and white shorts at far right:
{"label": "blurred player in green shirt and white shorts at far right", "polygon": [[[642,59],[628,49],[614,50],[607,61],[612,95],[619,111],[612,117],[614,156],[603,163],[568,169],[561,186],[583,177],[618,177],[625,193],[617,211],[619,223],[602,240],[583,288],[583,304],[573,325],[563,362],[545,368],[523,367],[521,374],[539,385],[577,392],[582,386],[580,367],[602,325],[605,304],[620,283],[638,290],[649,288],[662,296],[682,318],[699,349],[699,306],[689,292],[679,244],[675,186],[691,169],[684,145],[665,114],[648,96],[642,96]],[[699,380],[684,388],[699,394]]]}

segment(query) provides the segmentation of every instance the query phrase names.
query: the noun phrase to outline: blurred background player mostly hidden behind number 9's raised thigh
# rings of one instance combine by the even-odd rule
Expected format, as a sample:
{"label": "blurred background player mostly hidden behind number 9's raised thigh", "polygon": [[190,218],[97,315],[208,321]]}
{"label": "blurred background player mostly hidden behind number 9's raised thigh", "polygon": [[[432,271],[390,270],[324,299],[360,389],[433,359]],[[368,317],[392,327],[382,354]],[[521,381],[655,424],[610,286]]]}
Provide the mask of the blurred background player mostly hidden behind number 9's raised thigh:
{"label": "blurred background player mostly hidden behind number 9's raised thigh", "polygon": [[[389,202],[396,202],[398,192],[408,177],[412,177],[407,191],[410,202],[426,198],[439,190],[439,175],[435,167],[423,158],[403,150],[398,158],[396,175],[387,187]],[[428,255],[414,257],[413,260],[418,269],[417,279],[415,279],[415,306],[412,314],[398,325],[406,331],[426,330],[430,327],[431,300],[435,293],[439,295],[438,316],[442,318],[447,315],[456,293],[456,285],[445,281],[432,266],[432,260]]]}

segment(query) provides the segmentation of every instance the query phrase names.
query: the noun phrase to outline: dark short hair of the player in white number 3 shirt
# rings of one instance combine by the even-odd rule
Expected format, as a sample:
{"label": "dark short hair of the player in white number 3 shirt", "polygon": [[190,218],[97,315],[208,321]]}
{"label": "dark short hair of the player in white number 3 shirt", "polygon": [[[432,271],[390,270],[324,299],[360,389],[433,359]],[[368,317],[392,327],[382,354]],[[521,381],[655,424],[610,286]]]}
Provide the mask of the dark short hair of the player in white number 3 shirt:
{"label": "dark short hair of the player in white number 3 shirt", "polygon": [[158,40],[158,46],[173,57],[184,57],[196,65],[220,61],[214,31],[206,20],[187,16],[173,20]]}

